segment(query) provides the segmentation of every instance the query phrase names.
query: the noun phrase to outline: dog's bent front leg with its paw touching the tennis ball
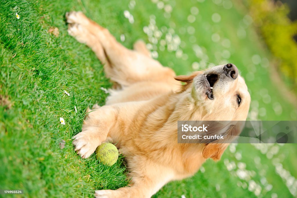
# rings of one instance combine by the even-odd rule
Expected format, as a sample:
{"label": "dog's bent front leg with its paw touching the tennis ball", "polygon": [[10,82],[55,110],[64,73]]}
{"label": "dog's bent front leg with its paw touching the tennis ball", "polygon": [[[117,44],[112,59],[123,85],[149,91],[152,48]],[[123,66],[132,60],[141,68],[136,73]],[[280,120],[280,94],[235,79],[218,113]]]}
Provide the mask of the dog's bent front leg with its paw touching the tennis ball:
{"label": "dog's bent front leg with its paw touching the tennis ball", "polygon": [[117,113],[117,108],[113,106],[103,106],[89,112],[82,132],[72,138],[75,151],[82,158],[88,158],[106,140],[110,128],[116,123]]}

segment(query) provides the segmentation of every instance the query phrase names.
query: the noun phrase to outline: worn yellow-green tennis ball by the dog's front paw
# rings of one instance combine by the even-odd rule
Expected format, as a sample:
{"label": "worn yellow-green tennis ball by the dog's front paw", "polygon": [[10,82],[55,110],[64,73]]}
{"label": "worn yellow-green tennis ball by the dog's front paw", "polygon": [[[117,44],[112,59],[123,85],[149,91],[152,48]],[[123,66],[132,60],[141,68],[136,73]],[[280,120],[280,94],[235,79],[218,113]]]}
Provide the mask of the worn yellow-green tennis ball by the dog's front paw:
{"label": "worn yellow-green tennis ball by the dog's front paw", "polygon": [[119,157],[118,149],[111,143],[102,143],[97,147],[95,153],[96,159],[107,166],[115,164]]}

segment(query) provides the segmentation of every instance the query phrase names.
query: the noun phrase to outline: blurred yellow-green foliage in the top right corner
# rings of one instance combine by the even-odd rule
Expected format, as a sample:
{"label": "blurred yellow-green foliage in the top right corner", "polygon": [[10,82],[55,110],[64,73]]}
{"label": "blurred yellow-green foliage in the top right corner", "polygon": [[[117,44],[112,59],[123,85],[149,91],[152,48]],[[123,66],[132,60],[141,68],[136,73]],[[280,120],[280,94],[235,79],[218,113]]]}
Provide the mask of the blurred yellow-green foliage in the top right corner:
{"label": "blurred yellow-green foliage in the top right corner", "polygon": [[287,17],[286,4],[274,4],[272,0],[252,0],[251,14],[260,29],[267,46],[279,58],[280,71],[290,79],[290,86],[297,91],[297,43],[293,36],[297,34],[297,21]]}

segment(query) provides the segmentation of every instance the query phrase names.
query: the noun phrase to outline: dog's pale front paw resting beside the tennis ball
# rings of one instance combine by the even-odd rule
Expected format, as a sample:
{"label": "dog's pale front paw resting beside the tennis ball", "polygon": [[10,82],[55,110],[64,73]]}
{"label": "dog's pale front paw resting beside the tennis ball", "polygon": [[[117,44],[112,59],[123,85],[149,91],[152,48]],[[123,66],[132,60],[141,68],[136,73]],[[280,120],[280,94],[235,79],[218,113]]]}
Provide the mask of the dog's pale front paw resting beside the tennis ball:
{"label": "dog's pale front paw resting beside the tennis ball", "polygon": [[81,156],[81,158],[88,158],[94,153],[97,146],[101,143],[92,132],[83,131],[73,136],[73,142],[75,151]]}

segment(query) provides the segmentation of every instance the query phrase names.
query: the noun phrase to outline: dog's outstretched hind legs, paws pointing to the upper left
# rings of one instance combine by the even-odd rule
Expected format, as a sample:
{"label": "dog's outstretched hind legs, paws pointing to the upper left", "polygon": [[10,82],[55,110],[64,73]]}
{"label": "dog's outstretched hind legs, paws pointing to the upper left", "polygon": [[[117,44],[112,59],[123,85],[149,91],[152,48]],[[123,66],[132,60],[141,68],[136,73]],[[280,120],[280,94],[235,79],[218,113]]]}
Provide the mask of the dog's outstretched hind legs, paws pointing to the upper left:
{"label": "dog's outstretched hind legs, paws pointing to the upper left", "polygon": [[149,57],[143,44],[136,43],[135,50],[122,46],[102,26],[88,19],[81,12],[66,14],[70,24],[68,32],[78,41],[86,43],[105,64],[106,75],[120,85],[131,85],[140,81],[172,82],[175,73]]}

